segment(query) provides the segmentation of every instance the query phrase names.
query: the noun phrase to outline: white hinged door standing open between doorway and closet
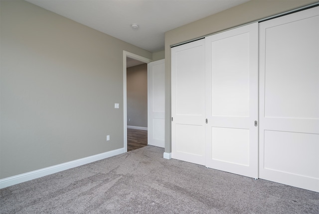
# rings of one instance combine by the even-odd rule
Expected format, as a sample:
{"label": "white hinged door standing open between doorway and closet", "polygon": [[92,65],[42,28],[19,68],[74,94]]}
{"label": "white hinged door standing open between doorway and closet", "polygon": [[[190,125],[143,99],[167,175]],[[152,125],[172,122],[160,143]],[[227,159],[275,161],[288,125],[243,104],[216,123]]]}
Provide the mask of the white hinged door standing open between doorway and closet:
{"label": "white hinged door standing open between doorway and closet", "polygon": [[164,148],[165,60],[148,64],[148,144]]}

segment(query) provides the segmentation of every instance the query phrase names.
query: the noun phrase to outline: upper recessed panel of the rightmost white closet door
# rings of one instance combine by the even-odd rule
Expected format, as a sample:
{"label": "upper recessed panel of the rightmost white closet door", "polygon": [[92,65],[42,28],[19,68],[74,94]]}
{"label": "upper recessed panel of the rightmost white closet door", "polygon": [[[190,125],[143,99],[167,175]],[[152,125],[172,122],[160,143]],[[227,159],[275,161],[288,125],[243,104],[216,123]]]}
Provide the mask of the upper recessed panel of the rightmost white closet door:
{"label": "upper recessed panel of the rightmost white closet door", "polygon": [[265,117],[319,118],[319,102],[314,99],[319,97],[319,76],[314,72],[319,68],[318,25],[314,16],[262,29],[267,42]]}

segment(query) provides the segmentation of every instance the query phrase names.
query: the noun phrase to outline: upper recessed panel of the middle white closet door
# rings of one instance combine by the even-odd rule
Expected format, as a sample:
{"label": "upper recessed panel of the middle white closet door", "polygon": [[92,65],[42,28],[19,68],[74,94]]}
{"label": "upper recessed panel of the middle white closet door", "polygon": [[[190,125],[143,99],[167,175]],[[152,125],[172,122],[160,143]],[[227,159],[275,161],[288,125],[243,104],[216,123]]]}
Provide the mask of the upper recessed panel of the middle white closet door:
{"label": "upper recessed panel of the middle white closet door", "polygon": [[211,42],[212,115],[249,116],[249,33]]}

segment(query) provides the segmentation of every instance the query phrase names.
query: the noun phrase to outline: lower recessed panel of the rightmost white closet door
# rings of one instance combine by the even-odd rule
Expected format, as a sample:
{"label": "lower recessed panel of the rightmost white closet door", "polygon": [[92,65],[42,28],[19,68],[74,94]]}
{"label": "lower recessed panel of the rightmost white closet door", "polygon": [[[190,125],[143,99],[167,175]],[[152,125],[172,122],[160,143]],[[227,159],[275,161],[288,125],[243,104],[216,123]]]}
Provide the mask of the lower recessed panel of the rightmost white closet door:
{"label": "lower recessed panel of the rightmost white closet door", "polygon": [[318,178],[319,170],[312,168],[319,168],[318,142],[318,134],[265,130],[264,168]]}

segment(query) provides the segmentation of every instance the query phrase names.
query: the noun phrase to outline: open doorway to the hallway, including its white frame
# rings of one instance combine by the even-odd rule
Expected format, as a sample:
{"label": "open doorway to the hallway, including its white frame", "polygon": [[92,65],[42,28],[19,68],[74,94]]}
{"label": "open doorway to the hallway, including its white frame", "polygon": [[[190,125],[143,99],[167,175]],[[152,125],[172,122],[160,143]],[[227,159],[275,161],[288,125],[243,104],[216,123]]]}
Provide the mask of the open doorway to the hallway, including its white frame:
{"label": "open doorway to the hallway, including its white frame", "polygon": [[124,149],[131,151],[147,143],[147,64],[151,60],[123,52]]}

